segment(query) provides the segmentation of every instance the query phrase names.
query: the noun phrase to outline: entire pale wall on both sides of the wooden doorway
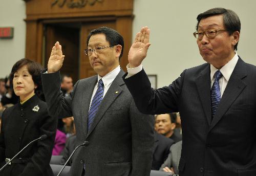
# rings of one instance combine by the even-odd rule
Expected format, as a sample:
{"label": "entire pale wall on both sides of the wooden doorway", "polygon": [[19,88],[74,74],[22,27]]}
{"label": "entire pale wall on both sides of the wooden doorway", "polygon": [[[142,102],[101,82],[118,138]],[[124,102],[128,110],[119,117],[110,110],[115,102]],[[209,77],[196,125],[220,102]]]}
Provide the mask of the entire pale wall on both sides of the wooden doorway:
{"label": "entire pale wall on both sides of the wooden doorway", "polygon": [[[142,26],[151,29],[152,45],[143,67],[147,74],[158,75],[158,87],[171,83],[184,69],[204,63],[193,32],[197,15],[214,7],[231,9],[239,15],[242,27],[238,54],[256,65],[256,1],[134,0],[133,36]],[[14,38],[0,39],[0,77],[5,77],[12,65],[25,57],[25,18],[24,1],[1,0],[0,27],[13,26]]]}

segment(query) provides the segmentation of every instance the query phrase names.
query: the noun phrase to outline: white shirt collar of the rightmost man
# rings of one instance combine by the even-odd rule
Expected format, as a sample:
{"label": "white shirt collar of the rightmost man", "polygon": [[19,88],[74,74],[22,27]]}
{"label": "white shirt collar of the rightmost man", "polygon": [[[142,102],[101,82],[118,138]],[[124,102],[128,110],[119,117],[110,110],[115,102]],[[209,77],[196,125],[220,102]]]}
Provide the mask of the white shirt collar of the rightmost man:
{"label": "white shirt collar of the rightmost man", "polygon": [[[238,54],[236,52],[236,54],[234,55],[234,57],[227,62],[221,69],[221,73],[223,75],[223,77],[226,79],[226,81],[228,82],[234,67],[236,67],[236,64],[238,62]],[[212,81],[212,79],[214,78],[214,74],[218,69],[216,67],[214,67],[214,65],[210,64],[210,80]]]}

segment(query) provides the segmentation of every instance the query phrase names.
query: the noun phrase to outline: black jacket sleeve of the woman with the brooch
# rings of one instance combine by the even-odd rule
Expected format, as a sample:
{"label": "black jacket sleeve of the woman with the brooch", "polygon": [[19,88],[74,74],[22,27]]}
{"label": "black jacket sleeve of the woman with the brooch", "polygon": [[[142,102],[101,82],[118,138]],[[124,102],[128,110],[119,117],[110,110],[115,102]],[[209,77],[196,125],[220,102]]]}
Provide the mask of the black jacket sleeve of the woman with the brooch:
{"label": "black jacket sleeve of the woman with the brooch", "polygon": [[50,117],[47,108],[42,111],[42,116],[39,119],[40,136],[47,135],[45,140],[37,142],[37,151],[31,157],[20,176],[25,175],[41,175],[45,172],[45,168],[49,165],[52,155],[52,148],[57,128],[57,119]]}

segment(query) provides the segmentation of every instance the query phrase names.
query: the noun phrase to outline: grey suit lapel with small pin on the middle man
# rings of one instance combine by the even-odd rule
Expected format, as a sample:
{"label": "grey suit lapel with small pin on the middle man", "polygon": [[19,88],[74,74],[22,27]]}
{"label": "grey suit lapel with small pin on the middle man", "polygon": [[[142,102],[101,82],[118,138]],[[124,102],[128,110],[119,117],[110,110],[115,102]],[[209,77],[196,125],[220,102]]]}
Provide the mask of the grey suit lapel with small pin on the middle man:
{"label": "grey suit lapel with small pin on the middle man", "polygon": [[115,99],[122,93],[122,88],[120,87],[120,85],[124,84],[123,79],[122,79],[123,75],[124,75],[124,72],[121,70],[119,72],[119,74],[116,76],[116,78],[114,79],[114,81],[112,82],[108,92],[106,93],[103,100],[101,101],[101,104],[98,108],[97,113],[95,114],[95,117],[91,124],[91,128],[88,131],[87,137],[91,134],[92,130],[99,123],[100,119],[103,117],[106,110],[115,101]]}

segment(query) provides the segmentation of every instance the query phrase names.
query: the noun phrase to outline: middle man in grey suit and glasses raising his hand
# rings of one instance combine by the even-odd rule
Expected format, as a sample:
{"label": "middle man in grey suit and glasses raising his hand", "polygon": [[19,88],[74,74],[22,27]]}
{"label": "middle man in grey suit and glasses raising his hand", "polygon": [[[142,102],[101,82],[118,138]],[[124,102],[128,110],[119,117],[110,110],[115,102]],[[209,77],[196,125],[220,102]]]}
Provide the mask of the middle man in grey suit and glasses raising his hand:
{"label": "middle man in grey suit and glasses raising his hand", "polygon": [[122,80],[119,59],[123,37],[102,27],[87,38],[91,67],[96,76],[81,79],[69,96],[60,93],[64,56],[58,42],[41,74],[49,113],[58,118],[74,116],[78,144],[71,175],[150,175],[154,144],[154,116],[141,114]]}

